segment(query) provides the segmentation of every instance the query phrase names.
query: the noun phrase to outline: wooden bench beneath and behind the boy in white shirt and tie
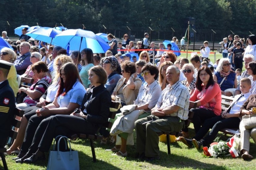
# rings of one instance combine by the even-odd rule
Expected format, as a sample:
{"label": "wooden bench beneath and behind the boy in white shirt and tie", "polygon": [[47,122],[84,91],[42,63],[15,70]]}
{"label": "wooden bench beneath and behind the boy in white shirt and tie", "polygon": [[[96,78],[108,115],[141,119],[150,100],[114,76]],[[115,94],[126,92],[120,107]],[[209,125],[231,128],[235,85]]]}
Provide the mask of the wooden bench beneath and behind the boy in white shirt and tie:
{"label": "wooden bench beneath and behind the boy in white shirt and tie", "polygon": [[[225,95],[221,95],[221,110],[224,111],[226,110],[230,104],[232,103],[232,101],[234,100],[233,97],[228,97],[228,96],[225,96]],[[237,130],[239,130],[238,128],[223,128],[221,129],[220,131],[223,132],[225,134],[225,136],[227,136],[227,134],[229,135],[234,135]]]}

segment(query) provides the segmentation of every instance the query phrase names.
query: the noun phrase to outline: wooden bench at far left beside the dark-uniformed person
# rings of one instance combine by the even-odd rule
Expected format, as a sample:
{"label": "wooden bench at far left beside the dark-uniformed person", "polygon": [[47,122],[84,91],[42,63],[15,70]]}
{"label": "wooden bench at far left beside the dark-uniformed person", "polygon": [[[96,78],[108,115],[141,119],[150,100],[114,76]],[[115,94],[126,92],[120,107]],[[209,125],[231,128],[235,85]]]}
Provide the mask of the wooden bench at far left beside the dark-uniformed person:
{"label": "wooden bench at far left beside the dark-uniformed person", "polygon": [[[24,114],[23,110],[19,110],[19,109],[15,108],[15,110],[14,110],[14,117],[13,117],[11,125],[14,126],[15,128],[20,128],[21,121],[15,119],[15,117],[16,116],[23,117],[23,114]],[[11,137],[12,139],[16,139],[17,134],[18,134],[17,131],[11,130],[10,133],[9,133],[9,137]],[[7,151],[6,148],[0,148],[0,155],[1,155],[1,158],[2,158],[3,165],[4,165],[4,169],[8,170],[8,167],[7,167],[7,164],[6,164],[6,160],[5,160],[5,155],[4,155],[4,153],[6,151]]]}

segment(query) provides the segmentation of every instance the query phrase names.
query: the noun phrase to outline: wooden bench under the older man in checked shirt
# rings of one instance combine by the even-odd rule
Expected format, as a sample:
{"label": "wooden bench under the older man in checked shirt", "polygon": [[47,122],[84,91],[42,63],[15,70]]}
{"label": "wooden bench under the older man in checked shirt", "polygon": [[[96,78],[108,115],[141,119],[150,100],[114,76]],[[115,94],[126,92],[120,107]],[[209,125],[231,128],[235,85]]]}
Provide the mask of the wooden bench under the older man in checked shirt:
{"label": "wooden bench under the older man in checked shirt", "polygon": [[[197,103],[193,102],[193,101],[189,101],[189,109],[191,108],[196,108],[197,107]],[[190,123],[192,122],[192,118],[194,116],[194,112],[189,111],[188,112],[188,119],[185,120],[185,126],[189,127]],[[166,142],[167,142],[167,150],[168,150],[168,154],[171,154],[171,148],[170,148],[170,137],[169,135],[174,135],[176,137],[182,136],[181,131],[180,132],[161,132],[158,134],[158,136],[162,135],[162,134],[166,134]]]}

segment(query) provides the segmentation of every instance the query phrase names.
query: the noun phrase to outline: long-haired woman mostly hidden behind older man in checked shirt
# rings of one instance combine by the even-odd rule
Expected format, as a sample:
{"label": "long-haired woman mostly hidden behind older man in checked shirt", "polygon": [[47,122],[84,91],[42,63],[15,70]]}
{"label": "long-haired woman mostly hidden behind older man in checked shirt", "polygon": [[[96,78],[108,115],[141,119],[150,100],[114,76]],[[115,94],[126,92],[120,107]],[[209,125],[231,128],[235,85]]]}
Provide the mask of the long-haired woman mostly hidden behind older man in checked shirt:
{"label": "long-haired woman mostly hidden behind older man in checked shirt", "polygon": [[174,66],[174,64],[170,61],[164,61],[161,65],[160,65],[160,69],[159,69],[159,85],[161,86],[161,89],[165,89],[166,86],[169,84],[168,81],[166,80],[166,69],[169,66]]}

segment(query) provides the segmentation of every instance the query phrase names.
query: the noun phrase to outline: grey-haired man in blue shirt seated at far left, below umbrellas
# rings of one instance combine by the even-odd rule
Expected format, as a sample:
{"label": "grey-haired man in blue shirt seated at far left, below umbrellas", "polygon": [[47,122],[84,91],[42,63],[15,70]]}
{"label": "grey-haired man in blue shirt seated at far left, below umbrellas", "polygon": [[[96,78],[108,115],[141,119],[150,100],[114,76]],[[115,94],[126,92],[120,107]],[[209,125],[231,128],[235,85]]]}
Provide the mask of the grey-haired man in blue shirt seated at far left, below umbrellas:
{"label": "grey-haired man in blue shirt seated at far left, below umbrellas", "polygon": [[18,75],[23,75],[26,69],[32,63],[30,62],[30,44],[28,42],[21,42],[20,44],[20,56],[14,61],[14,65]]}

